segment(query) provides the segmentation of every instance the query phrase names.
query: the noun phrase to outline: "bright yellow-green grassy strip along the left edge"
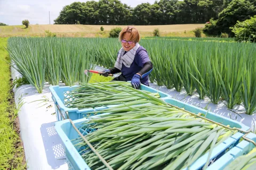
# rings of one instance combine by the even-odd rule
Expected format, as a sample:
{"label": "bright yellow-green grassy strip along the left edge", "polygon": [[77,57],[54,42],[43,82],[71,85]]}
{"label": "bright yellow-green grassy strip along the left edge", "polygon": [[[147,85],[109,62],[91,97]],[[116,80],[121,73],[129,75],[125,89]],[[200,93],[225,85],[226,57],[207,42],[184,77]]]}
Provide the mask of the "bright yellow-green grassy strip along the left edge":
{"label": "bright yellow-green grassy strip along the left edge", "polygon": [[7,38],[0,38],[0,169],[26,169],[19,121],[11,88]]}

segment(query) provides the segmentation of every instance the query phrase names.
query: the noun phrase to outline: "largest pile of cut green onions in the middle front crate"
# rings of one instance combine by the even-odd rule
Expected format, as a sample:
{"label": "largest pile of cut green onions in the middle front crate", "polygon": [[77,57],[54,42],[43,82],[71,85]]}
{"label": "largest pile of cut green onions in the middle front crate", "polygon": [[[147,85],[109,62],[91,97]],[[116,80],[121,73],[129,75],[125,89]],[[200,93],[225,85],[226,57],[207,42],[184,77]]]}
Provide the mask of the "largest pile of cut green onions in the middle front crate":
{"label": "largest pile of cut green onions in the middle front crate", "polygon": [[[182,169],[236,133],[177,108],[115,106],[85,123],[86,135],[113,169]],[[73,141],[91,169],[106,169],[82,139]]]}

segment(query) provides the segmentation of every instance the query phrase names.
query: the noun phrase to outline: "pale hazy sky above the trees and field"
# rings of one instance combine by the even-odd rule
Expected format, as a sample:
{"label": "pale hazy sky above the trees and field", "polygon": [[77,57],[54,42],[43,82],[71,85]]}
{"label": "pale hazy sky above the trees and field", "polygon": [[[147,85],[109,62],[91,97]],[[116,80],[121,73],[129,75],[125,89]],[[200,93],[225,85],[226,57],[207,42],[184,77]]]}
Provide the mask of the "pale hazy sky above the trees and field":
{"label": "pale hazy sky above the trees and field", "polygon": [[[86,0],[77,0],[86,2]],[[70,5],[75,0],[0,0],[0,22],[8,25],[22,25],[22,20],[29,20],[30,24],[54,23],[63,6]],[[138,4],[155,0],[121,0],[122,3],[135,7]]]}

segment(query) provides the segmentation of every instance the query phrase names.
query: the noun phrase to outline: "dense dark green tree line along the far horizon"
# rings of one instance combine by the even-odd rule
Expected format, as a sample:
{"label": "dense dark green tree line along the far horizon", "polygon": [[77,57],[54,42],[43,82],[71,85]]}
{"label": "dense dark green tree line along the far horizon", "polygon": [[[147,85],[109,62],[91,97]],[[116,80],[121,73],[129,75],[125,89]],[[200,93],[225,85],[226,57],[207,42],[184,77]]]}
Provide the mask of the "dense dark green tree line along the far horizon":
{"label": "dense dark green tree line along the far horizon", "polygon": [[237,21],[256,15],[256,0],[160,0],[135,7],[118,0],[74,2],[60,11],[55,24],[165,25],[206,23],[204,32],[228,33]]}

